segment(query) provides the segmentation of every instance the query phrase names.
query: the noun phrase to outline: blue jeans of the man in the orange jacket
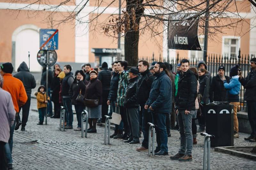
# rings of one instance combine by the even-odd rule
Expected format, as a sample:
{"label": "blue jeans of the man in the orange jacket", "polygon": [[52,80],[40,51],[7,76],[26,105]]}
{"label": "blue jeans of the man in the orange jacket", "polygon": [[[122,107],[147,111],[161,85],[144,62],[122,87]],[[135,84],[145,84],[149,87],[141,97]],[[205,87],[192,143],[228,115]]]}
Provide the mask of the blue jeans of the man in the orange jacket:
{"label": "blue jeans of the man in the orange jacket", "polygon": [[13,132],[14,132],[14,127],[16,124],[16,117],[14,119],[14,122],[12,126],[10,127],[10,138],[8,141],[8,144],[4,144],[4,150],[5,150],[5,157],[7,160],[7,164],[12,164],[12,144],[13,144]]}

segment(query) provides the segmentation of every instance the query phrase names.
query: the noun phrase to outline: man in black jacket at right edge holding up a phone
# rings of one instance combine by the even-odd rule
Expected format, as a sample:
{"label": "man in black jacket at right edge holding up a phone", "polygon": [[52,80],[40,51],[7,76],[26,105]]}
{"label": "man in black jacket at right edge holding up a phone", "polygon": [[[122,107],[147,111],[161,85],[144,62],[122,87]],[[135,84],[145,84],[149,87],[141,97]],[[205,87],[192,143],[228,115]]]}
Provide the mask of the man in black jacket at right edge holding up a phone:
{"label": "man in black jacket at right edge holding up a phone", "polygon": [[244,100],[246,100],[246,107],[248,119],[251,125],[252,133],[244,140],[256,142],[256,58],[250,60],[251,71],[246,78],[243,78],[242,72],[238,71],[239,81],[245,88]]}

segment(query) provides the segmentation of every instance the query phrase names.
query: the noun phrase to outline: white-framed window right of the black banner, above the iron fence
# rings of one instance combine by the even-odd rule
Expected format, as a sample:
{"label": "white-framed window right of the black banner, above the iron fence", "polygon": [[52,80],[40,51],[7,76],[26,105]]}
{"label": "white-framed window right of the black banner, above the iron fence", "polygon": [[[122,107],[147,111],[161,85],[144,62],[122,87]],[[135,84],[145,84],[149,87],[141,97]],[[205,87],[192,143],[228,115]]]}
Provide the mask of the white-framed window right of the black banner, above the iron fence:
{"label": "white-framed window right of the black banner, above the iron fence", "polygon": [[236,57],[236,55],[238,55],[238,50],[238,38],[224,38],[224,55],[228,57]]}

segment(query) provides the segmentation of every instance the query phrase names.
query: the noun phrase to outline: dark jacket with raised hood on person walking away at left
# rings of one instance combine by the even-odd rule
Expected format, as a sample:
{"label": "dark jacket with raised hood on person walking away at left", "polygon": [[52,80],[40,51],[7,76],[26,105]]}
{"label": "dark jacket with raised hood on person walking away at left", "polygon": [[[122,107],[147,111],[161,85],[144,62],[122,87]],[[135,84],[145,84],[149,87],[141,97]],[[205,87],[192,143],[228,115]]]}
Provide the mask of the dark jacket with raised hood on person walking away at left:
{"label": "dark jacket with raised hood on person walking away at left", "polygon": [[22,62],[17,70],[18,72],[13,75],[13,77],[20,79],[22,81],[27,96],[31,95],[31,89],[36,87],[36,80],[34,76],[29,72],[28,66],[25,62]]}

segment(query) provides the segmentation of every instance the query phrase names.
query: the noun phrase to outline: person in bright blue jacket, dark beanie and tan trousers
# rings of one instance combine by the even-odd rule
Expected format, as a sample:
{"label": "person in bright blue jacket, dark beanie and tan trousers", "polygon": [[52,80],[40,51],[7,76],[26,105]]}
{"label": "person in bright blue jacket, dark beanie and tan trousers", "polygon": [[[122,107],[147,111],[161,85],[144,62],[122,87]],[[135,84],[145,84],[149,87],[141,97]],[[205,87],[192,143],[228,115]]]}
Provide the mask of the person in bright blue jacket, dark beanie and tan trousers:
{"label": "person in bright blue jacket, dark beanie and tan trousers", "polygon": [[239,102],[239,92],[241,89],[241,83],[239,82],[238,78],[238,68],[239,65],[236,65],[235,67],[232,67],[230,69],[230,82],[228,83],[225,80],[224,77],[224,87],[228,90],[228,102],[231,105],[234,105],[234,138],[238,138],[239,134],[238,134],[238,119],[237,119],[237,108],[240,105]]}

